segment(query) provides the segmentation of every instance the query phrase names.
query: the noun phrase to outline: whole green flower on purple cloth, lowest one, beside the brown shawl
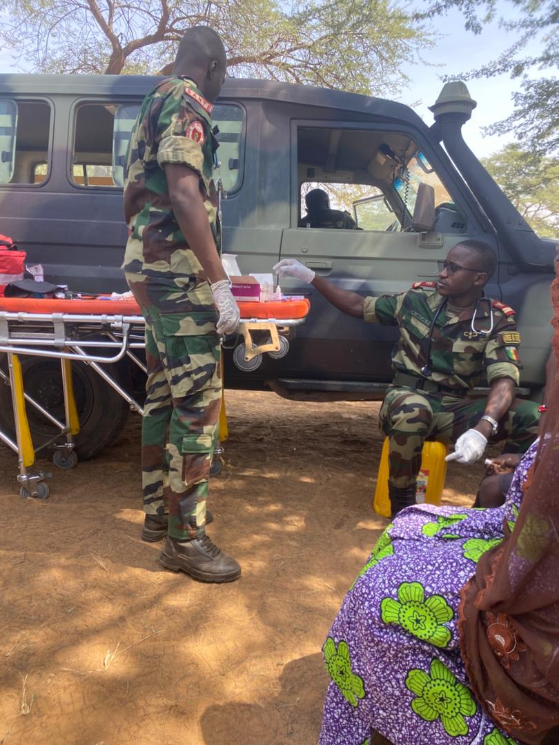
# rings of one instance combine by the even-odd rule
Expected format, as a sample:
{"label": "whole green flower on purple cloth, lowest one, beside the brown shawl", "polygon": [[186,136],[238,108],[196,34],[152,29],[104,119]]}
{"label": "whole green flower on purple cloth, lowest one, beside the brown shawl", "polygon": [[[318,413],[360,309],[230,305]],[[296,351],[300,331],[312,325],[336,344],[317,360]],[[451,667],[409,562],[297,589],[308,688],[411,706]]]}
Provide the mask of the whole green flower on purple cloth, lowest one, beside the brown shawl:
{"label": "whole green flower on purple cloth, lowest one, beside the brown shawl", "polygon": [[417,697],[411,701],[411,708],[427,722],[440,717],[446,734],[453,738],[467,735],[464,717],[473,717],[476,713],[470,689],[458,682],[438,659],[432,660],[429,672],[429,675],[417,669],[408,672],[405,686]]}

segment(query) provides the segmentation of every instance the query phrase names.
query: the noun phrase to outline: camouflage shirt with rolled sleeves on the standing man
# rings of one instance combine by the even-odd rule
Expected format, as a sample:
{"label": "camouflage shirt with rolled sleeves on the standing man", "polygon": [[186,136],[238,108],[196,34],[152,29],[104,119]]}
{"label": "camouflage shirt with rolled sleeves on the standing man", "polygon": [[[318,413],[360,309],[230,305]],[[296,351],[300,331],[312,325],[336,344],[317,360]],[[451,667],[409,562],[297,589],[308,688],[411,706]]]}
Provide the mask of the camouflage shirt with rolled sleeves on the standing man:
{"label": "camouflage shirt with rolled sleeves on the standing man", "polygon": [[124,215],[129,237],[122,264],[131,274],[190,278],[189,293],[200,291],[210,304],[200,261],[174,217],[164,166],[187,165],[199,175],[200,194],[218,242],[213,181],[218,143],[212,132],[212,108],[188,78],[165,78],[145,97],[128,150]]}

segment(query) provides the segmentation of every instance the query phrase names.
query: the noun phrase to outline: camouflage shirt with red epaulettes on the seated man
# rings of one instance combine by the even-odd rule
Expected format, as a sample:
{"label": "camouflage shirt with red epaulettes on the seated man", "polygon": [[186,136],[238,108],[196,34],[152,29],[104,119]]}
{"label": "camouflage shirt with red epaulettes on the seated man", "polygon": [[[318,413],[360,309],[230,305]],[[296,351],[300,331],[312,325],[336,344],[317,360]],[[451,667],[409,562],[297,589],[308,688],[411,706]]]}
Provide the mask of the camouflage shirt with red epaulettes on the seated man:
{"label": "camouflage shirt with red epaulettes on the seated man", "polygon": [[[392,352],[397,372],[423,377],[420,370],[427,362],[429,329],[441,302],[443,297],[435,282],[417,282],[408,292],[397,295],[365,298],[364,320],[399,326],[399,341]],[[489,303],[493,309],[490,334],[472,331],[473,311],[465,319],[448,307],[440,311],[432,332],[432,381],[453,389],[473,388],[485,372],[489,383],[497,378],[512,378],[518,385],[520,336],[512,308],[484,298],[479,303],[476,329],[489,331]]]}

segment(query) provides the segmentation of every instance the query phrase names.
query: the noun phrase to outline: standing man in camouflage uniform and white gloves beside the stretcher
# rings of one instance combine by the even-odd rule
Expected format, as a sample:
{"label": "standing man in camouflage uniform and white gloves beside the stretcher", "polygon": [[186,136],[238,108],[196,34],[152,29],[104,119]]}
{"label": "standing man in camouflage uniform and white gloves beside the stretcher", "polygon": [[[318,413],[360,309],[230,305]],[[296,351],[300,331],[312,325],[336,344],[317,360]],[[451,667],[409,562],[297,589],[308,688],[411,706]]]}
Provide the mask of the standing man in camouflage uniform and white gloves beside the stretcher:
{"label": "standing man in camouflage uniform and white gloves beside the stretcher", "polygon": [[[163,566],[206,582],[241,568],[206,536],[209,466],[221,407],[219,335],[239,308],[218,255],[213,101],[225,79],[211,28],[186,31],[173,75],[145,97],[130,139],[123,269],[145,317],[142,537],[166,537]],[[217,311],[216,311],[217,309]],[[168,440],[167,440],[168,430]]]}

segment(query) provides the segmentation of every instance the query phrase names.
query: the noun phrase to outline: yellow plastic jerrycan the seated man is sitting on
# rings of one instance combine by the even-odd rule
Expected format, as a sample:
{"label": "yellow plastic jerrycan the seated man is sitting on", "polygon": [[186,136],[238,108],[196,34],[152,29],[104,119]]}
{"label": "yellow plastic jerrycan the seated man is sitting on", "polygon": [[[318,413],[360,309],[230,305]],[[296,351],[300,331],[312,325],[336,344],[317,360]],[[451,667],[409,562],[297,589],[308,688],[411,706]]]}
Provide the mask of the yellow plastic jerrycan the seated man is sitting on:
{"label": "yellow plastic jerrycan the seated man is sitting on", "polygon": [[[421,469],[417,476],[417,504],[429,502],[440,504],[443,495],[444,479],[446,477],[446,460],[448,448],[443,443],[428,442],[423,444],[421,454]],[[376,477],[373,510],[377,515],[390,517],[390,499],[388,498],[388,437],[382,444],[379,473]]]}

